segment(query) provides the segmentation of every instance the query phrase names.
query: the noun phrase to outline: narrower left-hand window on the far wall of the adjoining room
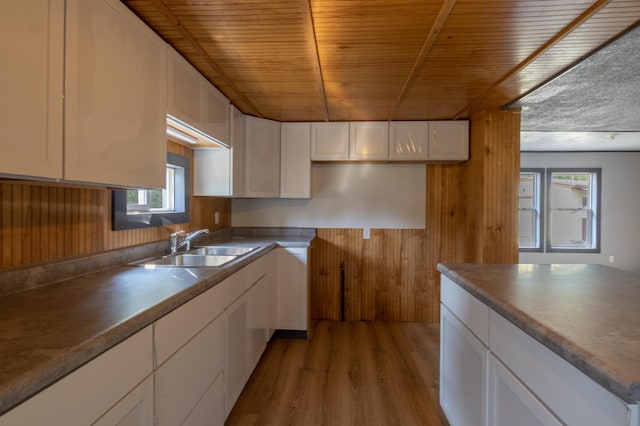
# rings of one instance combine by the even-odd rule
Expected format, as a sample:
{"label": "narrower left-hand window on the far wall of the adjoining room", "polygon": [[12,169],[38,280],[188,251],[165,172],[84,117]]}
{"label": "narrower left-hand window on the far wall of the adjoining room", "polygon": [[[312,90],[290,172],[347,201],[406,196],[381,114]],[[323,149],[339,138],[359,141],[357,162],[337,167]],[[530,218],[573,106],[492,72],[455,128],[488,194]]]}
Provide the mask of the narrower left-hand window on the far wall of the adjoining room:
{"label": "narrower left-hand window on the far wall of the adjoining room", "polygon": [[542,199],[541,188],[544,169],[520,171],[518,192],[518,242],[521,251],[542,251]]}

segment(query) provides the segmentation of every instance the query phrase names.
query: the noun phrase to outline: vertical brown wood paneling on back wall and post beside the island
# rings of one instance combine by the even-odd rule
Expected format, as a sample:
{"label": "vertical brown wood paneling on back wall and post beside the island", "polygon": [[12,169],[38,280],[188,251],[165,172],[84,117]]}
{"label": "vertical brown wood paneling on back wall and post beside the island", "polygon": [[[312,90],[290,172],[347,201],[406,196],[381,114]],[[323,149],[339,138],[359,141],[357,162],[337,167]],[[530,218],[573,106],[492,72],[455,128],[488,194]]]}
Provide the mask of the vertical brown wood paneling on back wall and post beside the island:
{"label": "vertical brown wood paneling on back wall and post beside the island", "polygon": [[319,229],[311,254],[311,316],[439,322],[440,262],[518,262],[520,117],[480,111],[470,159],[427,166],[425,230]]}

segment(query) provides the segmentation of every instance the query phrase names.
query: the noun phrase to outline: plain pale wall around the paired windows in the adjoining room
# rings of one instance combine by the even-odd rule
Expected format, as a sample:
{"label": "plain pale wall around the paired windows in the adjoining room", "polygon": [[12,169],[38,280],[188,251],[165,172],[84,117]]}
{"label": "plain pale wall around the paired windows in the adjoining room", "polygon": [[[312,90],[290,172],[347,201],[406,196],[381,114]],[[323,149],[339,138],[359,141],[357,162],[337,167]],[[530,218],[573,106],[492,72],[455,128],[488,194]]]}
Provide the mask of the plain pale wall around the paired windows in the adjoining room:
{"label": "plain pale wall around the paired windows in the adjoining room", "polygon": [[523,153],[520,158],[523,168],[602,168],[600,253],[520,253],[520,263],[600,263],[640,272],[640,153]]}

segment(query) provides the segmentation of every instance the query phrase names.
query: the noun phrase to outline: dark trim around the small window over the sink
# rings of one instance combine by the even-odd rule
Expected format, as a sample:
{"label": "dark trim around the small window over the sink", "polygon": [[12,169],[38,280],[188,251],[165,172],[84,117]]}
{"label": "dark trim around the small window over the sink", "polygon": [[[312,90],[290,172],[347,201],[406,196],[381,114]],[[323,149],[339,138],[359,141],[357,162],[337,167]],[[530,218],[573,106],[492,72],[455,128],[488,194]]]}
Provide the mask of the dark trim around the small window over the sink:
{"label": "dark trim around the small window over the sink", "polygon": [[[151,228],[156,226],[174,225],[189,222],[189,188],[190,167],[189,159],[181,155],[167,153],[167,164],[184,168],[184,211],[180,213],[143,213],[127,214],[127,191],[115,189],[112,191],[112,227],[114,231],[123,229]],[[176,189],[176,199],[182,199],[179,189]],[[177,201],[176,201],[177,202]]]}

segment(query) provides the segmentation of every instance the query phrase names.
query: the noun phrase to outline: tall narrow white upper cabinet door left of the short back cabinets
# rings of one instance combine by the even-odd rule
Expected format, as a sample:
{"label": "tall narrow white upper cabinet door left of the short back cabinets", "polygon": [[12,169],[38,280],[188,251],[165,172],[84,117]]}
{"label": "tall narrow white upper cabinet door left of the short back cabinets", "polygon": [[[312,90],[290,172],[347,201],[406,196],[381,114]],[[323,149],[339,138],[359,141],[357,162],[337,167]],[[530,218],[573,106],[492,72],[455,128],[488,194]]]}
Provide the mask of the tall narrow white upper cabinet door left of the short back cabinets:
{"label": "tall narrow white upper cabinet door left of the short back cabinets", "polygon": [[311,124],[282,123],[280,198],[311,198]]}

